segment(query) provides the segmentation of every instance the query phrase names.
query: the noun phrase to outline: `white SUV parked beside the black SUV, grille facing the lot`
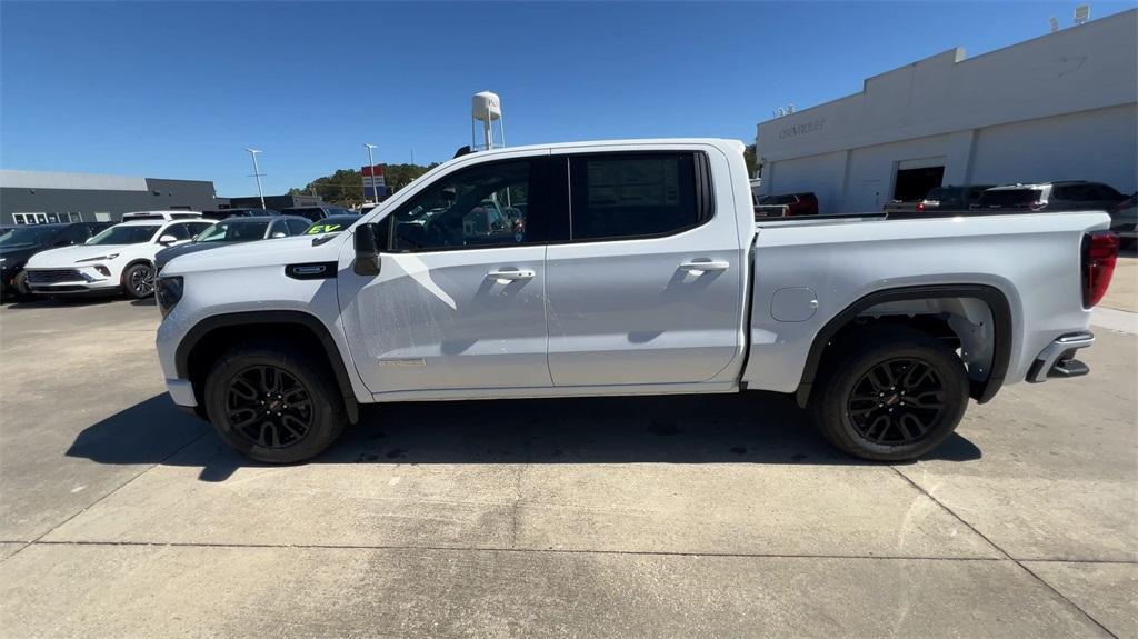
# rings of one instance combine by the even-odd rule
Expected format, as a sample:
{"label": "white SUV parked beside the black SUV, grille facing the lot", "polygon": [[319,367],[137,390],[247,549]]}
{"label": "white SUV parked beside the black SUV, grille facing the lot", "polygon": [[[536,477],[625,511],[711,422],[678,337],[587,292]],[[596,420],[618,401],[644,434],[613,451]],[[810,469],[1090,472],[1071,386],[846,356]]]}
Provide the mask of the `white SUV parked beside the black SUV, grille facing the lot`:
{"label": "white SUV parked beside the black SUV, grille facing the lot", "polygon": [[155,255],[189,242],[213,225],[207,219],[135,219],[104,230],[85,244],[33,255],[25,273],[33,293],[68,296],[154,294]]}

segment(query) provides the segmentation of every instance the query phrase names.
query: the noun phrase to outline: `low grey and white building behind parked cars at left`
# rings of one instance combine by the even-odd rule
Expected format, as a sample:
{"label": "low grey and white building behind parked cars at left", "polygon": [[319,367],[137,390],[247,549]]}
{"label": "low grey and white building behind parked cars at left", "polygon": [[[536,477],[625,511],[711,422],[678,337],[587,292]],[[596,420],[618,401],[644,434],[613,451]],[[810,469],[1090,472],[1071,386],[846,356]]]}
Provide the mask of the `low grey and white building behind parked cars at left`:
{"label": "low grey and white building behind parked cars at left", "polygon": [[215,210],[213,182],[0,171],[0,224],[117,222],[133,210]]}

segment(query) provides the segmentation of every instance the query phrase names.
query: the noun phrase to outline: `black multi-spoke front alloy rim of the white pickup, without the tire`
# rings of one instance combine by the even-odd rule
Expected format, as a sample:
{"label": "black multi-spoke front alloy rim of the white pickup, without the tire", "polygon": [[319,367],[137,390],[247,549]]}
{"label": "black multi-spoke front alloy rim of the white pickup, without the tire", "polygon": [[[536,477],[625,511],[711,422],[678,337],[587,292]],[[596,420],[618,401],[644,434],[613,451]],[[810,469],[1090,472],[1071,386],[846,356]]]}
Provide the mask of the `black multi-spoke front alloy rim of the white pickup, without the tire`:
{"label": "black multi-spoke front alloy rim of the white pickup, without the tire", "polygon": [[232,432],[265,449],[294,446],[312,430],[312,393],[277,366],[258,365],[234,375],[225,391]]}

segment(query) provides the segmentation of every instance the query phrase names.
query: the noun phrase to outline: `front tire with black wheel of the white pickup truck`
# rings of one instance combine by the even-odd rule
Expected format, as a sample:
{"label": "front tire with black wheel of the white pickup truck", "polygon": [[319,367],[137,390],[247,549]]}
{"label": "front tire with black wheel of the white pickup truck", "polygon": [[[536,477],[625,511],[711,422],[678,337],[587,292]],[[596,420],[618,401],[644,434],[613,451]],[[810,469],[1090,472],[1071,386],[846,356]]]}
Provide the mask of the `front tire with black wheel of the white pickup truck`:
{"label": "front tire with black wheel of the white pickup truck", "polygon": [[[266,377],[265,371],[275,373]],[[236,347],[206,376],[206,414],[225,443],[253,459],[304,462],[331,446],[348,421],[330,380],[328,364],[312,354],[272,345]]]}

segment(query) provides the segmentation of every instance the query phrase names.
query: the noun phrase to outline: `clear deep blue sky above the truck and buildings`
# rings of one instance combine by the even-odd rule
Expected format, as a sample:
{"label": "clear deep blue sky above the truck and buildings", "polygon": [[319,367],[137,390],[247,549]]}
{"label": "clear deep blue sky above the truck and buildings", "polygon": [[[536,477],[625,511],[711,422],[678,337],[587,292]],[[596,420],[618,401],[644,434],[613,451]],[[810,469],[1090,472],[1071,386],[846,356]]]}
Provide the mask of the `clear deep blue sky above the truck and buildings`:
{"label": "clear deep blue sky above the truck and buildings", "polygon": [[[1069,25],[1078,2],[0,2],[0,166],[266,193],[366,161],[445,160],[470,96],[511,146],[726,136],[789,102]],[[1092,3],[1103,17],[1135,3]]]}

